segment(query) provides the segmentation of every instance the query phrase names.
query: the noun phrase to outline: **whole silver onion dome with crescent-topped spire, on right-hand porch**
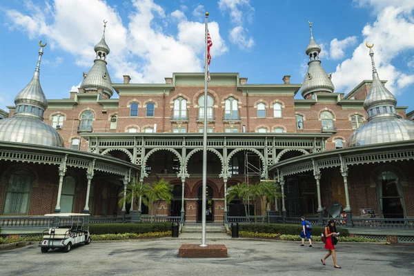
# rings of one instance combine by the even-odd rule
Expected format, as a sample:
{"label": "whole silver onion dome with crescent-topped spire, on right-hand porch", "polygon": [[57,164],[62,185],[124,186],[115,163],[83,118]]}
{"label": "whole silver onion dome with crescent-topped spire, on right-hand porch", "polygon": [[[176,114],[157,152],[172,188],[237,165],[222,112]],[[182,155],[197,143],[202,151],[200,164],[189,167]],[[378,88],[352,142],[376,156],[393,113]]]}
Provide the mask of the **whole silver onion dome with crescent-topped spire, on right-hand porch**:
{"label": "whole silver onion dome with crescent-topped spire, on right-hand porch", "polygon": [[414,121],[402,119],[397,115],[397,99],[378,77],[373,46],[368,46],[368,43],[366,46],[370,48],[369,55],[373,65],[373,84],[364,101],[368,123],[353,132],[348,139],[348,147],[414,139]]}

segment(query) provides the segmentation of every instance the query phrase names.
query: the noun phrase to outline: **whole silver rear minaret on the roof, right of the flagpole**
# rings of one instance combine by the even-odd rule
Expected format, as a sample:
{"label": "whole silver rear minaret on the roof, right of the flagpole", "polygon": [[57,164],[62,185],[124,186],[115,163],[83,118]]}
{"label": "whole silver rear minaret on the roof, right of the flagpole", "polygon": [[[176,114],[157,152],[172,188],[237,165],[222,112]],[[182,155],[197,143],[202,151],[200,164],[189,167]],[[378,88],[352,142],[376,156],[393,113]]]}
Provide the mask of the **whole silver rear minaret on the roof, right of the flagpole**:
{"label": "whole silver rear minaret on the roof, right of the flagpole", "polygon": [[314,92],[332,93],[335,90],[331,77],[328,77],[321,66],[319,53],[322,48],[313,39],[312,22],[308,21],[311,28],[311,41],[306,47],[306,55],[309,57],[308,72],[302,83],[301,94],[305,99],[311,99]]}

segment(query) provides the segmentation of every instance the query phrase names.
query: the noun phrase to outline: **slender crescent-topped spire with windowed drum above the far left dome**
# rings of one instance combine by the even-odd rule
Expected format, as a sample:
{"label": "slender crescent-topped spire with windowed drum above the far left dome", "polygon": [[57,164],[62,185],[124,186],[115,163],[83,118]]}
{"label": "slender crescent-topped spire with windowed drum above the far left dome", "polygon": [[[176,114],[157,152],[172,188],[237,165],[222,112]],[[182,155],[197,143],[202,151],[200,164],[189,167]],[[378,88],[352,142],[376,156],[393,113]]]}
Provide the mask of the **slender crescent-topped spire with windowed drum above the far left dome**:
{"label": "slender crescent-topped spire with windowed drum above the far left dome", "polygon": [[14,104],[16,105],[16,114],[32,115],[43,119],[43,112],[48,108],[48,100],[46,99],[43,90],[40,85],[40,61],[43,55],[43,47],[46,47],[48,43],[41,44],[39,42],[39,58],[37,59],[37,66],[34,70],[32,80],[28,85],[17,94],[14,98]]}

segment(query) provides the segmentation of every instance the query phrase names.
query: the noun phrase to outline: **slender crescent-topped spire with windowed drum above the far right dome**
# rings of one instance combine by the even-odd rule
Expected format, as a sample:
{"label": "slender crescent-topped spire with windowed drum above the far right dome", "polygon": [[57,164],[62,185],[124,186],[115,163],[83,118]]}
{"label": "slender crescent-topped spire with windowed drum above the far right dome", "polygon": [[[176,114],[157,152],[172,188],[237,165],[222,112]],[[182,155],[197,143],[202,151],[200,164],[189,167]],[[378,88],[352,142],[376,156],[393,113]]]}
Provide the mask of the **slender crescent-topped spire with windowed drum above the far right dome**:
{"label": "slender crescent-topped spire with windowed drum above the far right dome", "polygon": [[368,120],[373,119],[373,117],[384,115],[397,116],[397,113],[395,112],[397,99],[395,99],[394,95],[389,92],[380,81],[377,68],[375,68],[374,44],[370,46],[367,42],[365,45],[369,48],[369,55],[371,56],[371,63],[373,66],[373,84],[364,101],[364,108],[366,112],[368,112]]}

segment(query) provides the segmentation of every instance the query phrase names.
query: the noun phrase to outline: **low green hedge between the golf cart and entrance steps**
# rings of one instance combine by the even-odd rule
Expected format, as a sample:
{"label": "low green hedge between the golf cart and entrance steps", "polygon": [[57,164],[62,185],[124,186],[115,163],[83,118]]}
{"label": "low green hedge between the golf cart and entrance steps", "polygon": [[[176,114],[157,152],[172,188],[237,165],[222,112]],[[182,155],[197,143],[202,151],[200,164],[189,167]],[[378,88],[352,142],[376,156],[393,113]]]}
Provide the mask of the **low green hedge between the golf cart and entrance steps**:
{"label": "low green hedge between the golf cart and entrance steps", "polygon": [[91,235],[166,232],[171,230],[169,222],[157,224],[90,224]]}

